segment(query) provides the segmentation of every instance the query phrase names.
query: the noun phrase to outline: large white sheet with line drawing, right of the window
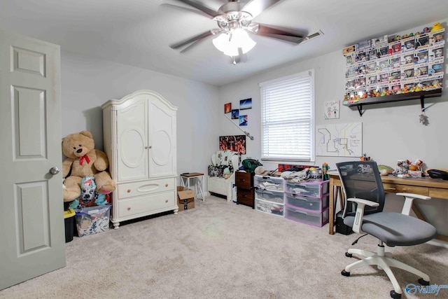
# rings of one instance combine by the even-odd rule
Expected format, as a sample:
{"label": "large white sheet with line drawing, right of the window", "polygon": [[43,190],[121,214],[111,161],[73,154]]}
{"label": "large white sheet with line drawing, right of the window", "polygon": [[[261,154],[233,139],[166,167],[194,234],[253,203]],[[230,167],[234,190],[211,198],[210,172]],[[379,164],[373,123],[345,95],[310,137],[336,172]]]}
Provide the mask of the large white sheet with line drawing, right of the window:
{"label": "large white sheet with line drawing, right of the window", "polygon": [[316,126],[316,155],[360,157],[363,155],[363,123]]}

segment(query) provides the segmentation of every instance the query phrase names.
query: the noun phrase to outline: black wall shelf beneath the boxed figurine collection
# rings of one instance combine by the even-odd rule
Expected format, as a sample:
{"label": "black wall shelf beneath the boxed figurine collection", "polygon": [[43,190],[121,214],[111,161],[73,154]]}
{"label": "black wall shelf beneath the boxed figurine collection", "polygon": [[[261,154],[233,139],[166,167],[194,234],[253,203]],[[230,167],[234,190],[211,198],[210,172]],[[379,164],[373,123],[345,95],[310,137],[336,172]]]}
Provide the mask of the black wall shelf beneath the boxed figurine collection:
{"label": "black wall shelf beneath the boxed figurine collection", "polygon": [[359,115],[363,116],[363,105],[380,104],[380,103],[390,103],[390,102],[402,102],[410,99],[420,99],[421,111],[425,111],[425,98],[427,97],[441,97],[442,89],[437,88],[435,90],[426,90],[419,92],[407,92],[400,95],[386,95],[384,97],[367,97],[365,99],[358,99],[358,102],[344,101],[344,106],[356,106]]}

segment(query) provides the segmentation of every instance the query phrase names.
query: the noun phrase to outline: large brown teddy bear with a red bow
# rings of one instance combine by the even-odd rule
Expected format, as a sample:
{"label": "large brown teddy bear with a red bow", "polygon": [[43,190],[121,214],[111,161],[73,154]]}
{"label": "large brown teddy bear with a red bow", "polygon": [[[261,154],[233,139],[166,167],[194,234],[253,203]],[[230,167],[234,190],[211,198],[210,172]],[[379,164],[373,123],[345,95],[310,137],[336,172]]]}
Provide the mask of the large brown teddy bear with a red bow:
{"label": "large brown teddy bear with a red bow", "polygon": [[64,202],[71,202],[80,196],[80,183],[84,176],[94,176],[98,193],[111,193],[116,183],[111,178],[106,153],[94,148],[92,133],[81,131],[69,134],[62,139],[62,153],[66,159],[62,162],[64,180]]}

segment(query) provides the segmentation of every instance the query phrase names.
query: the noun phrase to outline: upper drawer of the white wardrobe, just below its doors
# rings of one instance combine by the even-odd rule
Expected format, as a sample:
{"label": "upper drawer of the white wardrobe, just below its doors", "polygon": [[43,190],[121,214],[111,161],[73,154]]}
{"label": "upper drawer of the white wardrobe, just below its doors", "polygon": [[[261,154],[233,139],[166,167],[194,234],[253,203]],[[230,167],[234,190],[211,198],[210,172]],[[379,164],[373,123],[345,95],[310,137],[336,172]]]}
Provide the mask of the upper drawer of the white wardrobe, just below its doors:
{"label": "upper drawer of the white wardrobe, just below its doors", "polygon": [[118,199],[167,192],[176,188],[174,178],[118,184]]}

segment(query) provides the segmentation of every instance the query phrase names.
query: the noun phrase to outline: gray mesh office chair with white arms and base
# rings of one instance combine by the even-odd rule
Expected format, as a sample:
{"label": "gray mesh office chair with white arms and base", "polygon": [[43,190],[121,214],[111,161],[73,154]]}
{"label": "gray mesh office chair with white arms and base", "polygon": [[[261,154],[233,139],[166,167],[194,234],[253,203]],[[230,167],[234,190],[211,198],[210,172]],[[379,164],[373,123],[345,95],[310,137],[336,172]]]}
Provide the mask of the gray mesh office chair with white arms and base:
{"label": "gray mesh office chair with white arms and base", "polygon": [[379,239],[376,253],[361,249],[349,249],[345,253],[347,257],[351,258],[352,253],[355,253],[363,256],[363,259],[347,265],[341,274],[350,276],[350,271],[358,267],[377,265],[380,270],[386,272],[391,280],[393,290],[390,294],[394,299],[401,298],[402,291],[391,267],[398,267],[416,274],[421,277],[419,283],[428,286],[427,274],[395,260],[391,253],[385,253],[384,244],[387,246],[412,246],[422,244],[435,237],[436,230],[433,225],[409,216],[414,198],[430,200],[430,197],[396,193],[405,197],[401,214],[386,212],[383,211],[386,195],[376,162],[340,162],[336,164],[336,167],[346,195],[344,224],[349,225],[354,232],[366,233]]}

